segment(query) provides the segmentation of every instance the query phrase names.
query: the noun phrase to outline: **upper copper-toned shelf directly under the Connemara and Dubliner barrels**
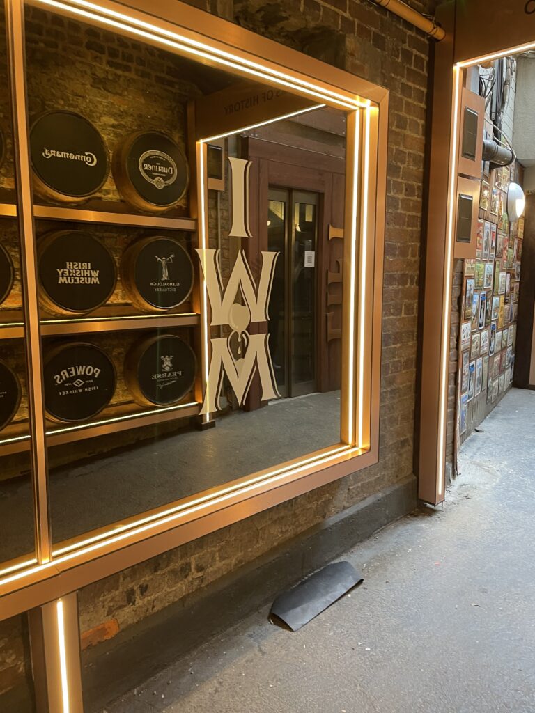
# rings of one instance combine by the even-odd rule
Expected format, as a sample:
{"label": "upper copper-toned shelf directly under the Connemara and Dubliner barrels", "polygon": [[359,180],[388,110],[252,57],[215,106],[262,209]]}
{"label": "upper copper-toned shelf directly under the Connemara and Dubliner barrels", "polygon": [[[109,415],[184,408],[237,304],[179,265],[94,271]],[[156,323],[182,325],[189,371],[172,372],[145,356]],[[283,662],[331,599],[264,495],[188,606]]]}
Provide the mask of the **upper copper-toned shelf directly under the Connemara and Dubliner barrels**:
{"label": "upper copper-toned shelf directly under the Connemara and Dubliner barrels", "polygon": [[[161,230],[197,230],[197,221],[178,215],[146,215],[129,212],[126,204],[114,201],[90,201],[83,207],[59,205],[34,205],[34,216],[41,220],[67,220],[71,222],[101,223],[104,225],[129,225]],[[0,216],[16,217],[16,204],[0,202]]]}

